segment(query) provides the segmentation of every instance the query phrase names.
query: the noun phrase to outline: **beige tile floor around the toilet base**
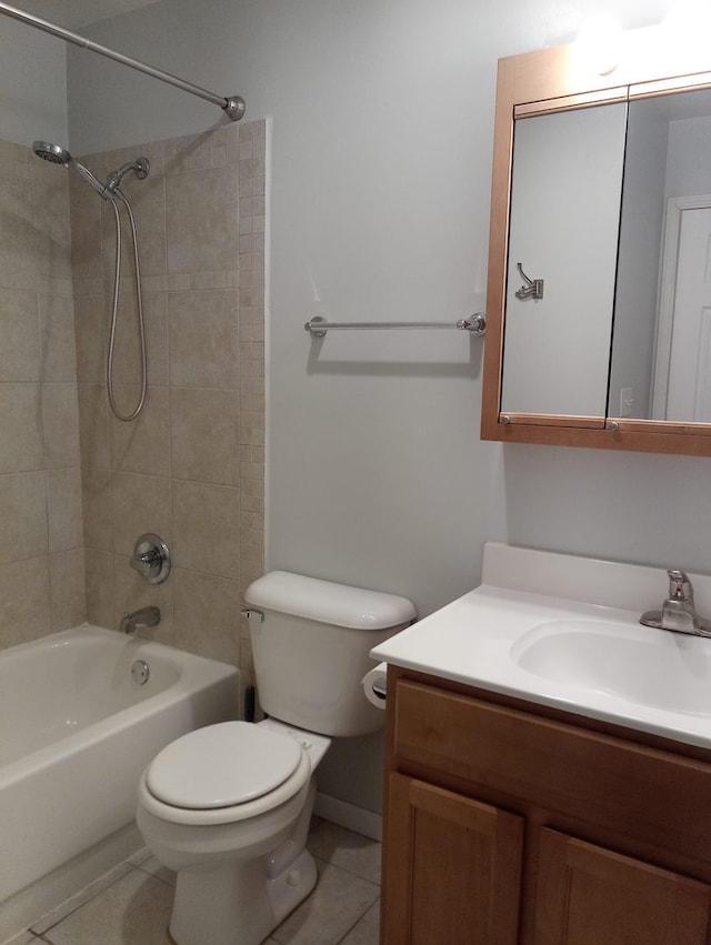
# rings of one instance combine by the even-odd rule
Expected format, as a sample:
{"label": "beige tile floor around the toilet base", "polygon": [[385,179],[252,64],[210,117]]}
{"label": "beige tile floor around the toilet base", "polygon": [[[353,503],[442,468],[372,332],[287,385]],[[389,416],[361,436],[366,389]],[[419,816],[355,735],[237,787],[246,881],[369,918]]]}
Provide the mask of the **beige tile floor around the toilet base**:
{"label": "beige tile floor around the toilet base", "polygon": [[[314,817],[309,850],[317,887],[264,945],[378,945],[380,844]],[[170,945],[172,884],[142,851],[8,945]]]}

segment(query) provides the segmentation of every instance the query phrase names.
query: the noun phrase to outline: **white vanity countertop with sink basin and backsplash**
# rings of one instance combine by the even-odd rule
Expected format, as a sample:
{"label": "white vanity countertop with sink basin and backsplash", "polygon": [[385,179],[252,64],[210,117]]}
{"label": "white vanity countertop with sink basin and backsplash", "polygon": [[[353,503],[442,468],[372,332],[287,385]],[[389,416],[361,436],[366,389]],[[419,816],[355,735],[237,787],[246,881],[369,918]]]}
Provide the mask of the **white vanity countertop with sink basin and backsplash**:
{"label": "white vanity countertop with sink basin and backsplash", "polygon": [[[709,615],[711,579],[690,576]],[[711,640],[639,623],[665,569],[488,544],[483,579],[372,657],[711,748]]]}

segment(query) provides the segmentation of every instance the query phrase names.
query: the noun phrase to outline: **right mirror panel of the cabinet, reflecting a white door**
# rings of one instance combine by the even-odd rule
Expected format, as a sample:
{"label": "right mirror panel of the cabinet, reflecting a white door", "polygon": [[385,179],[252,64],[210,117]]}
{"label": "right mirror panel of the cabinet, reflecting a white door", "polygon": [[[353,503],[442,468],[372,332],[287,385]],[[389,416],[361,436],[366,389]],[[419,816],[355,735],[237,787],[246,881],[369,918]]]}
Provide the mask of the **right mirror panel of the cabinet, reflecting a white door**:
{"label": "right mirror panel of the cabinet, reflecting a white door", "polygon": [[630,103],[609,416],[711,422],[711,90]]}

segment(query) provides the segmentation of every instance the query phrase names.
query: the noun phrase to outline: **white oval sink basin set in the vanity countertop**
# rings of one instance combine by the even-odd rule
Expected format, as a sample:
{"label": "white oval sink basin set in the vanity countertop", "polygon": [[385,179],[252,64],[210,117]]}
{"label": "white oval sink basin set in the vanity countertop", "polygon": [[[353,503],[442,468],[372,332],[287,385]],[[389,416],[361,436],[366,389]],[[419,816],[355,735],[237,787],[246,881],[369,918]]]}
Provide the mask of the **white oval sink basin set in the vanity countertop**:
{"label": "white oval sink basin set in the vanity countertop", "polygon": [[640,624],[552,620],[510,650],[522,670],[688,715],[711,715],[711,641]]}

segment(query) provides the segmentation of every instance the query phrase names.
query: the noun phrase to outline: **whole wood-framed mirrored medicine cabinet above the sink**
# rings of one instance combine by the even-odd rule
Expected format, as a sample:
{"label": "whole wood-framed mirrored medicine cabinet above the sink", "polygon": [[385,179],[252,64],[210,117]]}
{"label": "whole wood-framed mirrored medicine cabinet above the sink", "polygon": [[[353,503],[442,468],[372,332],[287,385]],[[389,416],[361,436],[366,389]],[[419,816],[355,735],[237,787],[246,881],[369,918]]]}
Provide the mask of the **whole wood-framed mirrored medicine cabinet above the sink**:
{"label": "whole wood-framed mirrored medicine cabinet above the sink", "polygon": [[500,60],[482,439],[711,455],[709,70],[662,28]]}

